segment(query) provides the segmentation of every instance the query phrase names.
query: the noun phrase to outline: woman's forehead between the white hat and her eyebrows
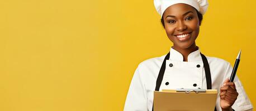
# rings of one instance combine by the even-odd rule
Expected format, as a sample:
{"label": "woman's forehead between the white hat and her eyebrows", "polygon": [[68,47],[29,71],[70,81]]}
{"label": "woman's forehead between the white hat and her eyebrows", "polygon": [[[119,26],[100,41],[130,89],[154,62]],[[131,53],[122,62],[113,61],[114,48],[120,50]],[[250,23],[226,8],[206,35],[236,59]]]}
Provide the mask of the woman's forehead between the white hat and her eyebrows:
{"label": "woman's forehead between the white hat and her eyebrows", "polygon": [[184,4],[184,3],[173,4],[172,6],[165,9],[163,17],[168,15],[179,16],[188,11],[192,11],[196,13],[196,9],[192,6],[189,6],[188,4]]}

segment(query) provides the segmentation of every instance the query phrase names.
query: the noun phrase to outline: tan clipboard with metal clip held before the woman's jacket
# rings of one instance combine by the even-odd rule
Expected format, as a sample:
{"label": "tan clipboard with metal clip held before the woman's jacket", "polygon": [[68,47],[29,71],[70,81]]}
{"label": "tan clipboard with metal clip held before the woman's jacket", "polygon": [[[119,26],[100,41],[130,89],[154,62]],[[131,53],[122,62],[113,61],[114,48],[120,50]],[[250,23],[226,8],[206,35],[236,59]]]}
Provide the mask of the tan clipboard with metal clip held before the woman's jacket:
{"label": "tan clipboard with metal clip held before the woman's jacket", "polygon": [[214,110],[216,89],[177,89],[154,91],[156,111],[206,111]]}

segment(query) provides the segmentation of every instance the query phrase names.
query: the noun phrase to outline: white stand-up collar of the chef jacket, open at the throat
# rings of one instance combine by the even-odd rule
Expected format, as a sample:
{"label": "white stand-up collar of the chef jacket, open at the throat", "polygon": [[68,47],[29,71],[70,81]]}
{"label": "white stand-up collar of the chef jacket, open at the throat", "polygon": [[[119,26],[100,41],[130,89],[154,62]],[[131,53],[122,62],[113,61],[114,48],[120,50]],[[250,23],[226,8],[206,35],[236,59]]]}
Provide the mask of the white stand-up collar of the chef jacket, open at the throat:
{"label": "white stand-up collar of the chef jacket, open at the throat", "polygon": [[[170,48],[170,58],[169,60],[175,60],[175,61],[182,61],[183,62],[183,56],[181,53],[176,51],[173,48]],[[200,49],[198,48],[197,51],[194,51],[190,54],[188,54],[188,62],[198,62],[202,61],[202,57],[200,55]]]}

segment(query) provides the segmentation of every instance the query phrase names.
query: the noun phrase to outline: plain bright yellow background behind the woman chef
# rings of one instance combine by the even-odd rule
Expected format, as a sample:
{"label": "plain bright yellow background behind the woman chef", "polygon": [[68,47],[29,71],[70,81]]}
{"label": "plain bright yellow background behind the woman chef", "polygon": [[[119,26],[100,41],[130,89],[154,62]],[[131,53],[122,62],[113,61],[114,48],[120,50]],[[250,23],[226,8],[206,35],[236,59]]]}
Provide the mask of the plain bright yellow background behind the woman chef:
{"label": "plain bright yellow background behind the woman chef", "polygon": [[[256,1],[212,0],[197,39],[256,104]],[[0,110],[123,110],[138,64],[168,53],[150,1],[0,2]]]}

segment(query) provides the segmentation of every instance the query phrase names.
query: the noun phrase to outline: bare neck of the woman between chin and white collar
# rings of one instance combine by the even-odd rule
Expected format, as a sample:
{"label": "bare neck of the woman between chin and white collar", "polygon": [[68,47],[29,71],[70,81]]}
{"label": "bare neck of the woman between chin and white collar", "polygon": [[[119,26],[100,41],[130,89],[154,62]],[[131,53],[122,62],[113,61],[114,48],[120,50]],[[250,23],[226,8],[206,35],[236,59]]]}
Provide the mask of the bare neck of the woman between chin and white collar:
{"label": "bare neck of the woman between chin and white collar", "polygon": [[196,46],[196,43],[193,43],[191,45],[191,47],[188,47],[188,48],[180,48],[180,47],[176,47],[175,45],[172,48],[182,54],[184,62],[188,61],[188,55],[190,53],[198,50],[198,47]]}

